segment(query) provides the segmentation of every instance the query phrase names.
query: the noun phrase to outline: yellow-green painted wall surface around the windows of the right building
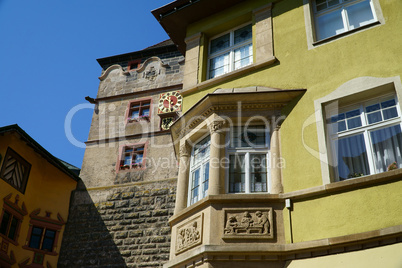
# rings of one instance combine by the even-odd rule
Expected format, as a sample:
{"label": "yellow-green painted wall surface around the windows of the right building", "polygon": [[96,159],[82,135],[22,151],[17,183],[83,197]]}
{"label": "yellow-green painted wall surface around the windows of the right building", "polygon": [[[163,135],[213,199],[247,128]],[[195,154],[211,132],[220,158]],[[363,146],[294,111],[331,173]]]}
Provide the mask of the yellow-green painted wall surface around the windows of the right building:
{"label": "yellow-green painted wall surface around the windows of the right building", "polygon": [[[243,22],[244,16],[267,1],[249,1],[218,15],[190,25],[188,36],[198,32],[210,37],[222,31],[219,22]],[[314,100],[358,77],[397,77],[402,75],[402,2],[379,1],[385,24],[370,27],[308,49],[303,0],[280,1],[272,9],[274,55],[277,62],[227,82],[197,92],[184,93],[184,110],[217,88],[266,86],[281,89],[305,88],[307,92],[283,109],[287,119],[281,128],[281,153],[286,161],[282,170],[284,192],[323,185],[321,163],[305,146],[318,151],[317,127],[303,124],[314,117]],[[249,15],[245,15],[249,14]],[[237,18],[237,19],[236,19]],[[236,25],[224,24],[226,30]],[[207,39],[207,38],[205,38]],[[201,47],[200,77],[205,79],[205,53]],[[254,59],[255,60],[255,59]],[[202,81],[202,80],[201,80]],[[185,91],[186,89],[184,89]],[[304,136],[302,137],[302,131]],[[395,182],[320,198],[299,200],[292,211],[293,241],[309,241],[378,230],[402,224],[402,183]],[[392,200],[392,202],[390,202]],[[284,224],[289,225],[285,214]],[[290,235],[287,230],[287,242]],[[313,231],[314,230],[314,231]]]}

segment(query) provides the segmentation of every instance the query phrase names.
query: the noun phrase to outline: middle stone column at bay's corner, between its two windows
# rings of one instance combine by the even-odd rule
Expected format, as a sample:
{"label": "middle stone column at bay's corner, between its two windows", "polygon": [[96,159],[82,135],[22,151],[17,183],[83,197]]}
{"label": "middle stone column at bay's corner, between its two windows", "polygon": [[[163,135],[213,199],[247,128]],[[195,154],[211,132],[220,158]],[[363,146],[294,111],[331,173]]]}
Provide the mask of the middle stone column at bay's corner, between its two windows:
{"label": "middle stone column at bay's corner, between its two windows", "polygon": [[222,118],[215,118],[208,124],[208,128],[211,133],[208,195],[217,195],[223,193],[222,183],[220,180],[220,163],[221,149],[224,144],[224,125],[225,120]]}

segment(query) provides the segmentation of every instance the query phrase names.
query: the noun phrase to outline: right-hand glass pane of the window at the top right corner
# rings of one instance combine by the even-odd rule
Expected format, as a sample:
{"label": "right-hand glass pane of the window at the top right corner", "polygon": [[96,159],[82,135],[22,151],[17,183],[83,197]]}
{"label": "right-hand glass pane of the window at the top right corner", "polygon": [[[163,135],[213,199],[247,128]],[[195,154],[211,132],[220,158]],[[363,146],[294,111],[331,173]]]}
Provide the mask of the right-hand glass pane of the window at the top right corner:
{"label": "right-hand glass pane of the window at the top right corner", "polygon": [[370,1],[363,1],[346,7],[349,19],[349,30],[374,22]]}

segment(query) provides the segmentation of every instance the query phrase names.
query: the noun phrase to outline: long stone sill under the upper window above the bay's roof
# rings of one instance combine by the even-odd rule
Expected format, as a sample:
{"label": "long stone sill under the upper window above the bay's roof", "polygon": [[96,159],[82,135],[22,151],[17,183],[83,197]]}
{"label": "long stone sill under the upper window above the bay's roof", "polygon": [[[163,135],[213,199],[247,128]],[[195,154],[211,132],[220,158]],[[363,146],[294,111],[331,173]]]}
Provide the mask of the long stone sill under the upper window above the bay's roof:
{"label": "long stone sill under the upper window above the bay's roof", "polygon": [[270,59],[268,59],[268,60],[266,60],[264,62],[253,63],[253,64],[250,64],[250,65],[248,65],[246,67],[243,67],[243,68],[240,68],[238,70],[232,71],[230,73],[227,73],[227,74],[224,74],[224,75],[212,78],[212,79],[208,79],[206,81],[198,83],[197,85],[189,87],[187,89],[184,88],[183,91],[182,91],[182,95],[191,94],[194,91],[197,91],[197,90],[200,90],[200,89],[204,89],[204,88],[207,88],[207,87],[214,86],[216,84],[220,84],[220,83],[229,81],[229,80],[231,80],[233,78],[242,76],[242,75],[247,74],[249,72],[252,72],[252,71],[261,69],[261,68],[263,68],[265,66],[271,65],[274,62],[276,62],[276,57],[272,56]]}

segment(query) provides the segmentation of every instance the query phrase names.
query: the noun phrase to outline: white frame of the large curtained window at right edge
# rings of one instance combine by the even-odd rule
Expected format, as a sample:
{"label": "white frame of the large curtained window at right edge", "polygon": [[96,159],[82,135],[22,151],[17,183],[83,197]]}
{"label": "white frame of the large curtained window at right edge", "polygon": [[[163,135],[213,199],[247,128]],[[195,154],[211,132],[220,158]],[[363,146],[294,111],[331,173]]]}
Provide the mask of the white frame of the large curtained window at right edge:
{"label": "white frame of the large curtained window at right edge", "polygon": [[[367,116],[366,116],[367,113],[365,111],[365,107],[370,106],[375,103],[381,103],[382,101],[389,99],[391,97],[394,98],[394,100],[395,100],[395,103],[396,103],[395,108],[397,110],[398,117],[394,117],[394,118],[386,119],[386,120],[383,120],[380,122],[369,124],[367,121]],[[385,95],[377,96],[375,98],[366,99],[358,104],[352,104],[352,105],[341,107],[339,110],[331,110],[330,114],[329,114],[329,118],[331,118],[332,116],[334,116],[336,114],[352,111],[355,109],[360,110],[360,120],[362,123],[362,125],[360,127],[356,127],[356,128],[350,129],[350,130],[343,130],[343,131],[334,133],[332,130],[331,123],[327,122],[327,129],[328,129],[328,133],[330,133],[329,136],[331,139],[330,148],[331,148],[331,152],[332,152],[332,157],[335,161],[337,161],[337,159],[338,159],[337,148],[335,146],[336,140],[355,136],[358,134],[363,134],[364,144],[365,144],[366,152],[367,152],[367,161],[368,161],[368,165],[369,165],[369,172],[370,172],[370,174],[367,174],[367,175],[373,175],[373,174],[376,174],[377,172],[375,169],[375,160],[374,160],[374,156],[373,156],[373,147],[372,147],[372,143],[371,143],[370,132],[373,132],[373,131],[376,131],[379,129],[384,129],[387,127],[396,126],[396,125],[399,125],[402,130],[401,110],[400,110],[399,101],[395,94],[385,94]],[[380,111],[382,111],[382,109]],[[338,165],[334,166],[334,174],[335,174],[335,181],[340,181]],[[351,179],[351,178],[346,178],[346,179]]]}

